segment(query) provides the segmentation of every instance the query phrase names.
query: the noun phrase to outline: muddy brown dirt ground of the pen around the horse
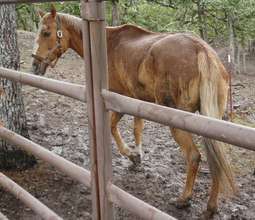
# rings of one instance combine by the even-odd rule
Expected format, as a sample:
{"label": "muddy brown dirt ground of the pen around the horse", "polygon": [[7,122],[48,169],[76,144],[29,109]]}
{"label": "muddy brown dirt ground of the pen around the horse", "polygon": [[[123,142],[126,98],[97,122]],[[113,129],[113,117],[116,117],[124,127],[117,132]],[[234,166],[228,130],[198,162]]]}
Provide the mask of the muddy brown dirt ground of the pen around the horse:
{"label": "muddy brown dirt ground of the pen around the horse", "polygon": [[[29,72],[34,35],[19,33],[21,68]],[[82,60],[73,52],[49,69],[47,77],[79,84],[85,83]],[[233,80],[235,121],[255,125],[255,76],[235,76]],[[28,128],[31,140],[64,158],[89,169],[89,147],[86,105],[29,86],[23,87]],[[127,143],[133,143],[132,118],[125,116],[120,123]],[[245,138],[245,137],[244,137]],[[198,139],[199,140],[199,139]],[[206,208],[210,190],[210,175],[203,156],[191,207],[180,210],[173,200],[178,197],[185,181],[185,162],[179,147],[166,126],[145,123],[141,165],[133,167],[112,144],[114,183],[134,196],[150,203],[177,219],[198,219]],[[201,145],[200,145],[201,146]],[[203,153],[203,147],[200,147]],[[255,153],[227,146],[226,151],[236,174],[239,195],[221,199],[214,219],[255,219]],[[91,219],[90,190],[39,161],[34,168],[20,172],[5,172],[40,201],[64,219]],[[0,211],[9,219],[40,219],[11,194],[0,189]],[[115,208],[115,219],[138,220],[128,211]]]}

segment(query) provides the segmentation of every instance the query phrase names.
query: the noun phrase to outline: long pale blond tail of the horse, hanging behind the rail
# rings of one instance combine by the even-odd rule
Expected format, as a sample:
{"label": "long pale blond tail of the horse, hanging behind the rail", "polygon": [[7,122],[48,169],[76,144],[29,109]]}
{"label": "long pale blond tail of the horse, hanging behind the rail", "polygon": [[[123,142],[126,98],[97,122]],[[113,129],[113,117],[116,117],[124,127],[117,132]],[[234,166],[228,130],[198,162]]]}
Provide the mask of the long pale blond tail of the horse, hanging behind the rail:
{"label": "long pale blond tail of the horse, hanging behind the rail", "polygon": [[[200,82],[200,112],[222,119],[227,105],[228,74],[216,54],[204,50],[198,54]],[[224,143],[205,138],[205,148],[213,180],[227,195],[236,192],[233,173],[223,152]]]}

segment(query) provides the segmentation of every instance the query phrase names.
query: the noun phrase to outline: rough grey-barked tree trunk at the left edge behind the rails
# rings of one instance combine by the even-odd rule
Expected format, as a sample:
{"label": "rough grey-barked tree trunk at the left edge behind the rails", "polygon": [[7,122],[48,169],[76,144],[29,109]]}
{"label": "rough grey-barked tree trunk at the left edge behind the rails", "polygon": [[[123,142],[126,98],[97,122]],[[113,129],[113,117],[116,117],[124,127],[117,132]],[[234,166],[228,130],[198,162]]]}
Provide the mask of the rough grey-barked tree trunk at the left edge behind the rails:
{"label": "rough grey-barked tree trunk at the left edge behind the rails", "polygon": [[[19,68],[15,5],[0,4],[0,66]],[[0,78],[0,88],[1,123],[28,138],[21,84]],[[0,169],[25,169],[35,162],[32,155],[0,139]]]}

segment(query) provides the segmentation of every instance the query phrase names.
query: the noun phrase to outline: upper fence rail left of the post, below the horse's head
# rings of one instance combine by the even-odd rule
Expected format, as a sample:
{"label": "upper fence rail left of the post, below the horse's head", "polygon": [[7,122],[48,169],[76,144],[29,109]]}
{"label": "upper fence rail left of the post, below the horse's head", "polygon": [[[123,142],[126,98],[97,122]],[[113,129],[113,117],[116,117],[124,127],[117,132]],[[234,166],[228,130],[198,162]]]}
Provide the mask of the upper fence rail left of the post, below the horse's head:
{"label": "upper fence rail left of the post, below the horse's head", "polygon": [[86,87],[0,67],[0,77],[86,102]]}

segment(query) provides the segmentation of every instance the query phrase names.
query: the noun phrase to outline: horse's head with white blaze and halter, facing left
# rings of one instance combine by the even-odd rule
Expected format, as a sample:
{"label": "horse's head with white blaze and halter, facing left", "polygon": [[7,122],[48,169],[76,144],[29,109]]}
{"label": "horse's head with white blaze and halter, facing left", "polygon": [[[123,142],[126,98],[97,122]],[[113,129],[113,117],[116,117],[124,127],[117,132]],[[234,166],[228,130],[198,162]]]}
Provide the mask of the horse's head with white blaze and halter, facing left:
{"label": "horse's head with white blaze and halter, facing left", "polygon": [[69,35],[54,6],[50,13],[38,11],[38,14],[41,21],[32,53],[32,72],[44,75],[47,67],[54,67],[68,49]]}

